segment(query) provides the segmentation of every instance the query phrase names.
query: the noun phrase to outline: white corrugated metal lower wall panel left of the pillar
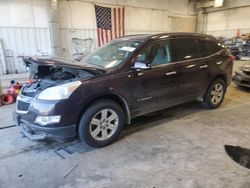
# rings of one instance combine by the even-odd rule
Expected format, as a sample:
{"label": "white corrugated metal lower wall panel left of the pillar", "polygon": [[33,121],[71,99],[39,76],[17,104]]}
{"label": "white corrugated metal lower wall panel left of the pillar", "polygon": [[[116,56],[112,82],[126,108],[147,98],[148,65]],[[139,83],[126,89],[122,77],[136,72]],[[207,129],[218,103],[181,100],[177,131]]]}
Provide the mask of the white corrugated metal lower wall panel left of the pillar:
{"label": "white corrugated metal lower wall panel left of the pillar", "polygon": [[49,28],[0,27],[0,39],[6,57],[7,73],[26,71],[18,56],[51,54]]}

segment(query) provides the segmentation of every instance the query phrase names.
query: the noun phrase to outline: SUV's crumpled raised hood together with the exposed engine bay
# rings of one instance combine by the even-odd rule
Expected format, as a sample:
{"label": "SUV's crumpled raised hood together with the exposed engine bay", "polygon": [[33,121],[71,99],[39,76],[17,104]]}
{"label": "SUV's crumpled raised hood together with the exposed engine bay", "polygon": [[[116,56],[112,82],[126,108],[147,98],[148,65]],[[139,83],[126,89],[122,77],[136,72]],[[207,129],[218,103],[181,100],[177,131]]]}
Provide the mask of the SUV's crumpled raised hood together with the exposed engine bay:
{"label": "SUV's crumpled raised hood together with the exposed engine bay", "polygon": [[[24,62],[30,66],[31,83],[21,89],[21,95],[35,97],[46,88],[74,81],[85,81],[101,76],[104,70],[86,66],[63,58],[26,57]],[[34,66],[35,65],[35,66]]]}

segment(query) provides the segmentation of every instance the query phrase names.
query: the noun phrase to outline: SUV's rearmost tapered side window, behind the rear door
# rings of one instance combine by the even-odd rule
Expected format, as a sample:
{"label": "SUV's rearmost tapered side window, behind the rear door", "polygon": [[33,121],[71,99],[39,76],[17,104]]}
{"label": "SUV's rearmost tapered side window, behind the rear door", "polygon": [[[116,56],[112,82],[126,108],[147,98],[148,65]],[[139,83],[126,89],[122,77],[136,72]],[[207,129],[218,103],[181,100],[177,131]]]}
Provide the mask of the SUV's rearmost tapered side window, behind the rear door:
{"label": "SUV's rearmost tapered side window, behind the rear door", "polygon": [[201,48],[200,48],[201,55],[203,57],[215,54],[223,49],[219,43],[216,43],[216,41],[199,40],[199,42],[200,42],[200,46],[201,46]]}

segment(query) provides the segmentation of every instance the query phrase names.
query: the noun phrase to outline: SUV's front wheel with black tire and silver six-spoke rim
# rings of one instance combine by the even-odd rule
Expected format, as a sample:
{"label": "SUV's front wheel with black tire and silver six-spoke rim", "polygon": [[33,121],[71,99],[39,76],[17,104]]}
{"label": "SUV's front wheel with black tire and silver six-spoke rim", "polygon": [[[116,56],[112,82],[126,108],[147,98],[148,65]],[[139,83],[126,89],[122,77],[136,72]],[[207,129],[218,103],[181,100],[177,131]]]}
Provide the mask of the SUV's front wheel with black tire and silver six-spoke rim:
{"label": "SUV's front wheel with black tire and silver six-spoke rim", "polygon": [[93,103],[82,115],[78,135],[82,142],[92,147],[104,147],[113,143],[124,127],[124,112],[112,100]]}

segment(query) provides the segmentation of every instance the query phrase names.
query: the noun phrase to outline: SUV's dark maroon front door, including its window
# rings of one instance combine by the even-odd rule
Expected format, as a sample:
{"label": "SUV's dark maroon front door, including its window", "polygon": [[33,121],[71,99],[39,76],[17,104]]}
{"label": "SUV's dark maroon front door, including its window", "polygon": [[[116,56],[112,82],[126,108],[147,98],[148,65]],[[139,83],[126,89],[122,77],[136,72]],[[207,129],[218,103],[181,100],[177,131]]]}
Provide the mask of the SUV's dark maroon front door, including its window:
{"label": "SUV's dark maroon front door, including its window", "polygon": [[151,68],[131,70],[128,77],[133,116],[163,109],[175,104],[180,70],[171,63],[167,41],[144,48],[132,62],[144,62]]}

